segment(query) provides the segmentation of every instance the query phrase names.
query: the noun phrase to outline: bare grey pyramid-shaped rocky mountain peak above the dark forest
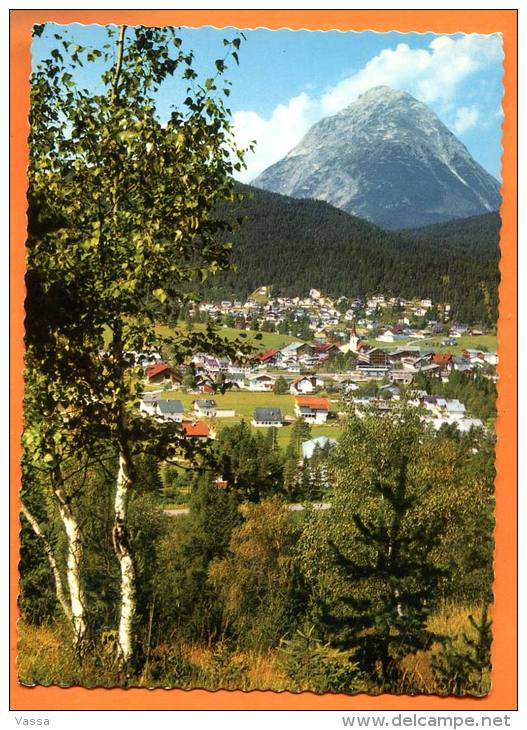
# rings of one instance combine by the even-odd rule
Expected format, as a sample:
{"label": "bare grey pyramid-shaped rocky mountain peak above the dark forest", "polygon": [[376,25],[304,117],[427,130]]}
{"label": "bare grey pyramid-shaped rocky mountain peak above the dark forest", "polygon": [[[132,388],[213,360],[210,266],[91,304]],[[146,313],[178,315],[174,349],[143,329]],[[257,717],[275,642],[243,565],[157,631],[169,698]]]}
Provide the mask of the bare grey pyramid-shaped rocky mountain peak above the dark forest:
{"label": "bare grey pyramid-shaped rocky mountain peak above the dark forest", "polygon": [[425,104],[369,89],[317,122],[253,182],[325,200],[384,228],[410,228],[497,210],[498,181]]}

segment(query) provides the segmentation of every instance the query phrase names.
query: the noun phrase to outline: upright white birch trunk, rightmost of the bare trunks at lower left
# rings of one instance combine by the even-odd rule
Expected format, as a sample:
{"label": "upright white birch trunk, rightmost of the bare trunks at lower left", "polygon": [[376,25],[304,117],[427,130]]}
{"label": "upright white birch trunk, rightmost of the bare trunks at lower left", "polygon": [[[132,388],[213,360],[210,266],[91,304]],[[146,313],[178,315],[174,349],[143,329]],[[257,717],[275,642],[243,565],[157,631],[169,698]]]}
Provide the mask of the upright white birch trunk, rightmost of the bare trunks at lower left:
{"label": "upright white birch trunk, rightmost of the bare trunks at lower left", "polygon": [[134,618],[136,612],[135,568],[128,544],[126,523],[128,500],[133,484],[127,456],[119,454],[119,472],[115,490],[113,545],[121,568],[121,615],[119,619],[118,661],[125,667],[134,653]]}

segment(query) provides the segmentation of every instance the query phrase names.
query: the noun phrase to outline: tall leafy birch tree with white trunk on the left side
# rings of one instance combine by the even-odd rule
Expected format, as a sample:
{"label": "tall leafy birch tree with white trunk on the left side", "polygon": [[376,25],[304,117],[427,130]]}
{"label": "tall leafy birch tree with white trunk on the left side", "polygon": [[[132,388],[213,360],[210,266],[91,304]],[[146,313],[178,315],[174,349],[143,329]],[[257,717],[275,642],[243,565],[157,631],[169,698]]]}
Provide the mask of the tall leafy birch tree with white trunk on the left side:
{"label": "tall leafy birch tree with white trunk on the left side", "polygon": [[[49,37],[49,28],[37,26],[37,38],[43,31]],[[107,34],[101,48],[87,48],[61,29],[31,77],[25,443],[48,478],[63,469],[68,449],[88,460],[117,457],[117,654],[128,671],[134,458],[148,451],[192,457],[177,426],[140,417],[137,353],[163,347],[158,325],[196,298],[196,282],[229,266],[224,231],[233,224],[216,211],[220,201],[234,201],[232,174],[243,164],[224,79],[228,62],[238,63],[240,38],[224,40],[224,57],[200,82],[174,29],[121,26]],[[92,90],[79,83],[79,66],[90,63],[100,72]],[[162,121],[156,98],[172,77],[184,101]],[[196,349],[234,355],[240,342],[227,346],[209,325],[176,333],[170,346],[183,362]],[[72,569],[81,585],[82,535],[67,512],[68,494],[55,496],[71,555],[78,550]]]}

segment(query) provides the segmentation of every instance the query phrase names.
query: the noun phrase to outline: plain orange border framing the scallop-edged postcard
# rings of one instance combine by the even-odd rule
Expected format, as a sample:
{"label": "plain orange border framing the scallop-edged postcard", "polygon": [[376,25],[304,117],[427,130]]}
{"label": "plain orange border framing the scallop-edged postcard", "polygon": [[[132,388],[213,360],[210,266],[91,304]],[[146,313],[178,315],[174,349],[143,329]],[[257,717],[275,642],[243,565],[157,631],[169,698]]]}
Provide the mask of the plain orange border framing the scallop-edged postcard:
{"label": "plain orange border framing the scallop-edged postcard", "polygon": [[[515,10],[14,10],[10,14],[11,141],[11,625],[10,696],[14,710],[514,710],[517,708],[517,11]],[[235,25],[271,29],[397,30],[503,34],[503,227],[499,318],[496,556],[493,688],[482,699],[273,692],[82,689],[20,686],[16,681],[18,487],[23,394],[24,241],[28,77],[33,23]]]}

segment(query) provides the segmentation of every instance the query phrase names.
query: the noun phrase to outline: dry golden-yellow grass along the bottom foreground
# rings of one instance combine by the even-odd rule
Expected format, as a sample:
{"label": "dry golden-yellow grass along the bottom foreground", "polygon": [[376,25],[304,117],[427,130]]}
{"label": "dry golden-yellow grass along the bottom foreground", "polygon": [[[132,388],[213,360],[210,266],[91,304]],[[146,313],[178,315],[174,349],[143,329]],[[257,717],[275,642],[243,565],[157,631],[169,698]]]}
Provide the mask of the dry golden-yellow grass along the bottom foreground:
{"label": "dry golden-yellow grass along the bottom foreground", "polygon": [[[475,638],[468,619],[470,614],[479,615],[479,609],[447,604],[432,616],[429,628],[452,637],[461,646],[463,633]],[[92,648],[80,666],[69,648],[67,632],[61,624],[31,626],[20,621],[18,629],[18,677],[23,684],[63,687],[122,685],[112,666],[110,632],[107,632],[106,640]],[[439,651],[440,645],[434,644],[428,651],[403,659],[402,679],[396,691],[442,694],[432,670],[434,657]],[[488,673],[484,679],[484,692],[487,692],[490,689]],[[149,653],[142,672],[128,686],[313,691],[309,678],[298,683],[285,673],[278,649],[239,650],[222,643],[215,646],[168,642],[158,645]],[[360,691],[367,692],[367,685]],[[390,691],[394,689],[390,688]]]}

